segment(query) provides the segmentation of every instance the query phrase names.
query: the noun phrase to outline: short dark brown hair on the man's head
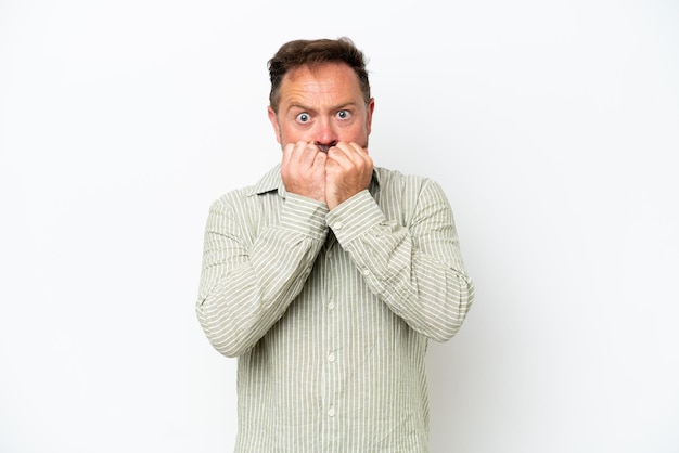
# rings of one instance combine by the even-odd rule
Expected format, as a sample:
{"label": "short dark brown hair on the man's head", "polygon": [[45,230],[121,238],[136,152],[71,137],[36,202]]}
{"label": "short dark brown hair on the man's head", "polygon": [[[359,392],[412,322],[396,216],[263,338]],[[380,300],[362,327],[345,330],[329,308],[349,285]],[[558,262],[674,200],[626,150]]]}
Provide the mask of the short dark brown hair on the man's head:
{"label": "short dark brown hair on the man's head", "polygon": [[287,72],[299,66],[315,66],[322,63],[345,63],[354,69],[363,92],[366,103],[370,101],[370,82],[366,70],[366,56],[349,38],[340,39],[298,39],[281,46],[269,60],[271,92],[269,105],[278,112],[279,89]]}

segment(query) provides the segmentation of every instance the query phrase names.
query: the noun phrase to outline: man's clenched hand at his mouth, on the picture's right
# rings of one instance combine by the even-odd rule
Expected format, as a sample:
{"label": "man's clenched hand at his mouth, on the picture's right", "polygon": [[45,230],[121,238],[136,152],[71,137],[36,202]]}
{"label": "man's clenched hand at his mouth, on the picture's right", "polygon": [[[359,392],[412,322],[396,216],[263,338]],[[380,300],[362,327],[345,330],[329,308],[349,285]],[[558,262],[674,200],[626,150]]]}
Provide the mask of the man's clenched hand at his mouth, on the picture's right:
{"label": "man's clenched hand at his mouth, on the picture's right", "polygon": [[332,210],[341,203],[368,189],[372,178],[372,158],[356,143],[340,142],[328,150],[325,163],[325,203]]}

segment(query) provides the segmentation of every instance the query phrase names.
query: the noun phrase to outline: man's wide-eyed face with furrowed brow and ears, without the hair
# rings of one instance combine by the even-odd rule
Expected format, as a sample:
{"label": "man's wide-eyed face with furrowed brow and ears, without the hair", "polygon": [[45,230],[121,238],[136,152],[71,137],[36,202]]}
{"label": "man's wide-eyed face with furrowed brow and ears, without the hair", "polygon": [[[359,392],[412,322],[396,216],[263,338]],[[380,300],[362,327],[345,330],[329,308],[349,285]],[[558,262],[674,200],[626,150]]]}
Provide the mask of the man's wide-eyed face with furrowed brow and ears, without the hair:
{"label": "man's wide-eyed face with furrowed brow and ears, without the hair", "polygon": [[289,72],[280,87],[278,114],[269,120],[278,142],[305,141],[326,152],[338,142],[368,146],[374,101],[363,100],[356,73],[344,63],[302,66]]}

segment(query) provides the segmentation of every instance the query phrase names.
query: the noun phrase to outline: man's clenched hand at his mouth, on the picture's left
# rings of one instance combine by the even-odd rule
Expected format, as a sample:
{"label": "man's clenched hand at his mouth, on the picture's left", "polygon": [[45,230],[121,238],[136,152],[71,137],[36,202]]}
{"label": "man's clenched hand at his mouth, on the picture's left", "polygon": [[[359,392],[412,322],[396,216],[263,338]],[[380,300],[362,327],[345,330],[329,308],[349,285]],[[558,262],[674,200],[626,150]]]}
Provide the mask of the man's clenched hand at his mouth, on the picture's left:
{"label": "man's clenched hand at his mouth, on the picture's left", "polygon": [[290,193],[325,202],[328,156],[313,143],[289,143],[283,148],[281,177]]}

